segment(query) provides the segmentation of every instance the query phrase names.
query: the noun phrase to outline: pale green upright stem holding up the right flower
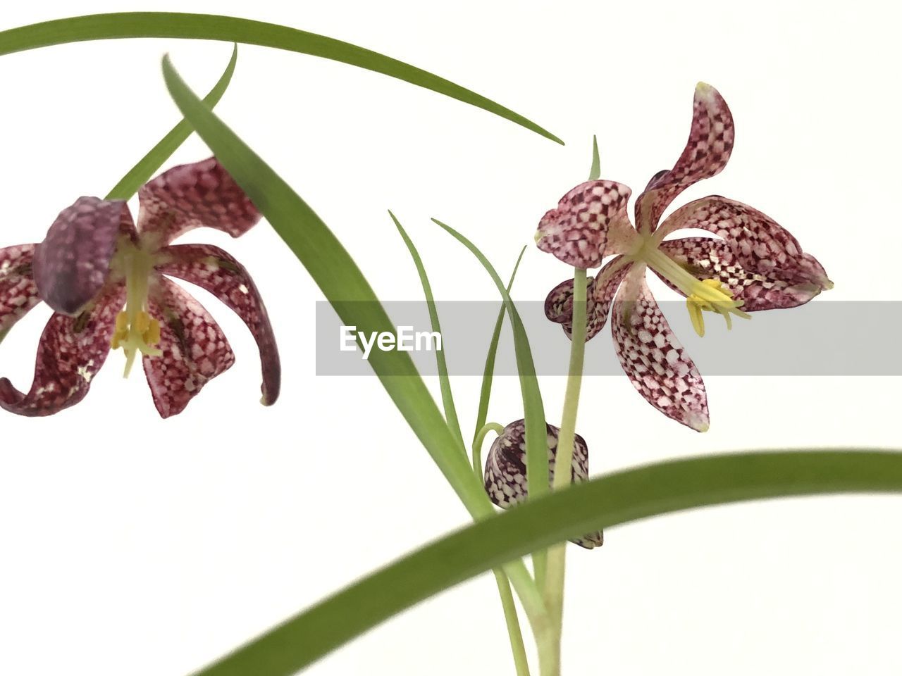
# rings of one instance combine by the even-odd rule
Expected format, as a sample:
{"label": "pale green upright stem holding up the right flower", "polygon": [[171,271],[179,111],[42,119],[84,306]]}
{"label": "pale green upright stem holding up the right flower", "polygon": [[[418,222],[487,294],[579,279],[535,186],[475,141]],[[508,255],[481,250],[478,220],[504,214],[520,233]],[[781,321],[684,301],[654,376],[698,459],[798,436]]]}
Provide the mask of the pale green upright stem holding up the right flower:
{"label": "pale green upright stem holding up the right flower", "polygon": [[[561,414],[560,432],[557,434],[557,456],[553,490],[565,489],[573,481],[573,446],[576,434],[576,412],[579,407],[579,390],[583,384],[585,354],[585,270],[575,268],[573,275],[573,332],[570,343],[570,366],[567,371],[564,411]],[[548,550],[548,573],[545,582],[545,602],[557,641],[557,673],[560,671],[560,636],[564,616],[564,570],[566,543],[556,544]]]}

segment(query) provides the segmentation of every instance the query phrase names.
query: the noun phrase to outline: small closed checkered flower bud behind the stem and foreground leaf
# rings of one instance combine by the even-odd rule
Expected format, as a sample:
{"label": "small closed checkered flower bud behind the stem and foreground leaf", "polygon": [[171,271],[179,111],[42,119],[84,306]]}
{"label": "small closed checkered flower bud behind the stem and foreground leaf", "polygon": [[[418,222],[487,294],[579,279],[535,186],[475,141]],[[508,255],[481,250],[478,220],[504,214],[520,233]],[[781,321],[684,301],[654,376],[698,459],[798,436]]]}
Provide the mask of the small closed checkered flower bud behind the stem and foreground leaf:
{"label": "small closed checkered flower bud behind the stem and foreground leaf", "polygon": [[[557,455],[557,434],[560,430],[548,425],[548,482],[555,479],[555,456]],[[575,435],[573,448],[573,481],[578,483],[589,478],[589,450],[585,440]],[[504,428],[504,432],[492,443],[489,457],[485,461],[485,490],[498,507],[507,509],[528,497],[526,487],[526,426],[523,420],[515,420]],[[574,540],[586,549],[603,543],[601,531],[584,535]]]}

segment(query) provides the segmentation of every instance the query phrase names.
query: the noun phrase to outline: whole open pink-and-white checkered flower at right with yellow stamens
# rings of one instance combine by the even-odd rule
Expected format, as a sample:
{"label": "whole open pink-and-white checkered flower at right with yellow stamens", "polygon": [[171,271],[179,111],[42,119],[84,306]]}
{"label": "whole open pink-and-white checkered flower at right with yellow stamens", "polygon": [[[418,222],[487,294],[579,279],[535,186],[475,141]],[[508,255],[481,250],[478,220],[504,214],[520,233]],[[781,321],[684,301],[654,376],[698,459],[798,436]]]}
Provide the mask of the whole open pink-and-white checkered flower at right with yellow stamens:
{"label": "whole open pink-and-white checkered flower at right with yellow stamens", "polygon": [[[690,202],[658,225],[686,187],[726,166],[734,138],[723,97],[710,85],[695,88],[692,126],[673,169],[658,171],[637,198],[630,224],[630,188],[610,180],[582,183],[561,197],[538,224],[538,248],[577,268],[597,268],[589,280],[586,340],[599,333],[613,306],[617,356],[633,386],[666,416],[704,432],[704,383],[645,281],[646,269],[686,297],[695,331],[704,335],[703,312],[749,318],[750,312],[807,303],[833,287],[824,268],[786,229],[757,209],[722,196]],[[695,228],[713,237],[665,240]],[[548,294],[545,313],[567,335],[573,317],[573,280]]]}

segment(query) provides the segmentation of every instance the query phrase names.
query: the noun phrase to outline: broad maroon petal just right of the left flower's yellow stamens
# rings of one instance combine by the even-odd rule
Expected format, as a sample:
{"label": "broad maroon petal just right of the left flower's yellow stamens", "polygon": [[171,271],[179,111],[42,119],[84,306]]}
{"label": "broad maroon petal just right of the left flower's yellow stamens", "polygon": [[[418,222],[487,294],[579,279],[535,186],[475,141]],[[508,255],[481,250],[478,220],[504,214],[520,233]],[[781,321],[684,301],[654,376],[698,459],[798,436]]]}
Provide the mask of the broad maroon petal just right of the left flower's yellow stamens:
{"label": "broad maroon petal just right of the left flower's yellow stamens", "polygon": [[160,356],[144,355],[144,375],[153,404],[164,418],[185,410],[210,380],[235,363],[219,324],[204,306],[164,277],[149,299],[150,315],[160,322]]}

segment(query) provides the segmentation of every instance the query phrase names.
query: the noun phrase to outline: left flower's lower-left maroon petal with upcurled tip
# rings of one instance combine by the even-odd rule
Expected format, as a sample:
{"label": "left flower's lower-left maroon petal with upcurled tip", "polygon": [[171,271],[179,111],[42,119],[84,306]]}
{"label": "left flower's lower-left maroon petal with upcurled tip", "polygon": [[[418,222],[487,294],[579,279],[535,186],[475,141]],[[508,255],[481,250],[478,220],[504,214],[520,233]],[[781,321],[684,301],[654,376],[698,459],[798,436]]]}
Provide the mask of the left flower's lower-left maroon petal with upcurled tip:
{"label": "left flower's lower-left maroon petal with upcurled tip", "polygon": [[85,398],[110,351],[125,289],[107,288],[80,315],[54,313],[44,328],[28,394],[0,379],[0,407],[20,416],[51,416]]}

